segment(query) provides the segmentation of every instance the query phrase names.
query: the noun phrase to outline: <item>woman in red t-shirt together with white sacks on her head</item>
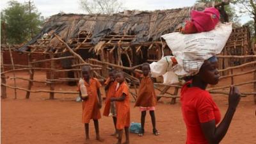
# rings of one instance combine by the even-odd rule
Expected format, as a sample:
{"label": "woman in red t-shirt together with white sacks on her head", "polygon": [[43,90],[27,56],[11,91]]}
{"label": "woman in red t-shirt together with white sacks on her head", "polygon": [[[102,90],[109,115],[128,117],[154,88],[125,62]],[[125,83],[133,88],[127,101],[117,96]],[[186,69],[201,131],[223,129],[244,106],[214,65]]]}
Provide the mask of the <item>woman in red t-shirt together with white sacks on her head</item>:
{"label": "woman in red t-shirt together with white sacks on her head", "polygon": [[178,76],[186,78],[180,92],[187,129],[186,144],[220,143],[236,111],[241,98],[236,86],[230,86],[228,108],[222,120],[220,109],[206,90],[208,84],[218,84],[220,80],[216,54],[225,47],[231,31],[232,24],[218,24],[209,32],[163,35],[173,56],[150,64],[152,76],[163,76],[164,81],[172,79],[176,83],[179,82]]}

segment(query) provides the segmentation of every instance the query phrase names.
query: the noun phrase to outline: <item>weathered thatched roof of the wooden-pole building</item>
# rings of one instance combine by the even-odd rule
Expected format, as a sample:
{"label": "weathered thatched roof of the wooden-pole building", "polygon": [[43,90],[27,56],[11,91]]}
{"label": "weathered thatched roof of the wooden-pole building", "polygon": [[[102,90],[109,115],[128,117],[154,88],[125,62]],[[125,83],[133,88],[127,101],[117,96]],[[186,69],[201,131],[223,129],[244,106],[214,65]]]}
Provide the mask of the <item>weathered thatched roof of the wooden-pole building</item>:
{"label": "weathered thatched roof of the wooden-pole building", "polygon": [[[45,33],[51,35],[50,47],[59,47],[60,42],[52,35],[56,33],[68,44],[84,33],[86,42],[97,44],[100,38],[108,35],[131,36],[132,44],[160,40],[161,35],[175,31],[189,17],[189,8],[156,10],[153,12],[125,11],[113,15],[57,14],[45,22],[42,31],[20,50],[26,51],[28,45],[35,45]],[[129,41],[129,40],[128,40]]]}

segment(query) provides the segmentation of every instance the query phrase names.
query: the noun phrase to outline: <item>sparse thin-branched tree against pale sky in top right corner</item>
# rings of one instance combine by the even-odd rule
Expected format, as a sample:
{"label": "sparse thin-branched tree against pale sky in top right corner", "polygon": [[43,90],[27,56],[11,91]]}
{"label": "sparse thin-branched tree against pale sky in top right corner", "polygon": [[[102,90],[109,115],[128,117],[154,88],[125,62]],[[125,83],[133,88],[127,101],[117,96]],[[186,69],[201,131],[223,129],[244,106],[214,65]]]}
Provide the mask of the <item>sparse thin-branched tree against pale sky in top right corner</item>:
{"label": "sparse thin-branched tree against pale sky in top right corner", "polygon": [[[256,34],[256,0],[234,0],[233,3],[239,6],[240,13],[252,17],[254,33]],[[256,35],[254,35],[254,39],[256,40]]]}

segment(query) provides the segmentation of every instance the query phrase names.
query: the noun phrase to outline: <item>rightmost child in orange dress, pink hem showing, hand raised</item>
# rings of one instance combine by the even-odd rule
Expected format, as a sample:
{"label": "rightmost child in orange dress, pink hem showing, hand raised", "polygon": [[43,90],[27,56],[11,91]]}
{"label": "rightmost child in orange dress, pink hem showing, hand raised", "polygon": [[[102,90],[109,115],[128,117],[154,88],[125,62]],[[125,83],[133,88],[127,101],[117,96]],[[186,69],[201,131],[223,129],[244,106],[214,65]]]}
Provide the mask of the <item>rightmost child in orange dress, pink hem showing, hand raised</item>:
{"label": "rightmost child in orange dress, pink hem showing, hand raised", "polygon": [[156,93],[154,91],[154,83],[149,76],[150,66],[148,63],[143,63],[141,66],[143,74],[136,73],[136,77],[140,77],[140,88],[138,93],[138,99],[136,100],[135,106],[140,107],[141,111],[141,131],[139,136],[144,134],[144,124],[146,111],[149,111],[151,116],[151,121],[153,125],[153,134],[159,135],[156,129],[156,116],[155,116],[155,106],[156,106]]}

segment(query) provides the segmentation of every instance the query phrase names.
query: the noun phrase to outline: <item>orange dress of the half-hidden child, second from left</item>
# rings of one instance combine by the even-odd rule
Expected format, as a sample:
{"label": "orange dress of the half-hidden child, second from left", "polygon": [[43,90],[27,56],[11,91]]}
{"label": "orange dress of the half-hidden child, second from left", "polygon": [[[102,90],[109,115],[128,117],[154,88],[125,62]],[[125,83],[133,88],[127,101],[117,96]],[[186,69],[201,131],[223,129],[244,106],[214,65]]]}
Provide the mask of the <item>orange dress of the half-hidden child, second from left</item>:
{"label": "orange dress of the half-hidden child, second from left", "polygon": [[[107,79],[107,81],[105,82],[105,84],[109,83],[109,78]],[[116,90],[116,85],[117,82],[114,81],[109,85],[109,88],[106,92],[106,101],[105,101],[105,108],[103,111],[103,115],[104,116],[109,116],[109,111],[110,111],[110,98],[111,97],[115,97],[115,90]]]}

